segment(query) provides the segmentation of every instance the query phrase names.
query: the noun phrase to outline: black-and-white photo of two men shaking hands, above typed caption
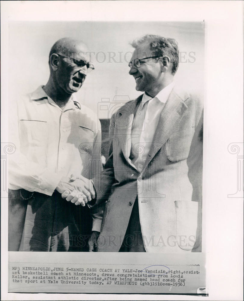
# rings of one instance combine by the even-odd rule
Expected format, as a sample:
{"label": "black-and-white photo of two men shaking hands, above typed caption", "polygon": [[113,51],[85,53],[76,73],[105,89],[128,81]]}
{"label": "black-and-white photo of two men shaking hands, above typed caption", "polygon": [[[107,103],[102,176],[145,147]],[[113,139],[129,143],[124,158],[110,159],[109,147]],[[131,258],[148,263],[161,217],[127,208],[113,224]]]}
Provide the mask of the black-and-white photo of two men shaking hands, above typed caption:
{"label": "black-and-white photo of two men shaking hands, above typed caption", "polygon": [[[129,27],[133,40],[113,39]],[[13,23],[10,35],[27,74],[36,57],[50,74],[11,103],[9,251],[201,251],[204,23]]]}

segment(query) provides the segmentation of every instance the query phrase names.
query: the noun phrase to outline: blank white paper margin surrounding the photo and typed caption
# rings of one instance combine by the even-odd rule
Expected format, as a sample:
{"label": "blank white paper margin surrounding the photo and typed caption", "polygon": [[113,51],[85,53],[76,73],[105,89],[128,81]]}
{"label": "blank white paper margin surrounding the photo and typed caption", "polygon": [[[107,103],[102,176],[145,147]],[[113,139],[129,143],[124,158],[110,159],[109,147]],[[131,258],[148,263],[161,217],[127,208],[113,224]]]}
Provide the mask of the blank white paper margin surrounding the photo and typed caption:
{"label": "blank white paper margin surrounding the photo and typed caption", "polygon": [[[243,145],[243,2],[242,1],[2,1],[1,142],[8,141],[9,91],[17,77],[37,76],[9,70],[9,22],[12,21],[205,22],[205,115],[203,220],[207,242],[208,297],[164,295],[8,294],[7,202],[1,195],[1,288],[5,300],[243,300],[243,199],[236,191],[236,155],[228,145]],[[51,28],[50,28],[51,30]],[[22,33],[21,33],[22,34]],[[49,31],[46,33],[48,36]],[[128,35],[129,33],[125,33]],[[57,37],[59,38],[59,37]],[[134,36],[133,36],[134,38]],[[126,42],[129,39],[126,39]],[[179,43],[180,45],[180,43]],[[16,44],[16,51],[18,50]],[[127,51],[127,48],[126,48]],[[19,63],[19,62],[18,62]],[[9,72],[13,77],[9,77]],[[9,80],[10,78],[10,80]],[[24,80],[23,80],[24,82]],[[39,82],[38,82],[39,84]],[[9,88],[10,87],[10,88]],[[27,87],[28,88],[28,87]],[[34,87],[35,88],[35,87]],[[114,89],[114,88],[113,88]],[[1,157],[2,159],[2,157]],[[61,254],[57,254],[59,256]],[[48,256],[48,254],[47,254]]]}

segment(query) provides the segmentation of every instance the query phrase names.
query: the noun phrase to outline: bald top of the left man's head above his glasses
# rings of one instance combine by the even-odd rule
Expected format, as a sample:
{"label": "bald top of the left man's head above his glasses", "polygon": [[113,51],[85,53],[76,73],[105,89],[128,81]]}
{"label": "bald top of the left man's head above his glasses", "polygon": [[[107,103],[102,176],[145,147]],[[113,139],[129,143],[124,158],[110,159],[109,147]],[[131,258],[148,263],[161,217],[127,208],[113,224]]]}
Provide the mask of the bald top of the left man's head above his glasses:
{"label": "bald top of the left man's head above his glasses", "polygon": [[51,48],[49,53],[49,64],[50,57],[52,54],[63,54],[68,57],[79,59],[79,56],[88,53],[87,45],[77,39],[72,38],[62,38],[57,40]]}

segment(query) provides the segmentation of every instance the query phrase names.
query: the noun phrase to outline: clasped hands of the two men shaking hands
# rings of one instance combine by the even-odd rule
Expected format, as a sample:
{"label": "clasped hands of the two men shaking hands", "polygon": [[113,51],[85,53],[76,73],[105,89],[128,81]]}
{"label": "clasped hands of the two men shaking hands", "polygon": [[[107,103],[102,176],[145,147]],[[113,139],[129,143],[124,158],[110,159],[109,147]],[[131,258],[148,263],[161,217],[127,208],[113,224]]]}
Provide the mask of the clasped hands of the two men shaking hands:
{"label": "clasped hands of the two men shaking hands", "polygon": [[56,190],[63,199],[82,206],[94,199],[96,195],[92,181],[82,175],[71,175],[70,179],[63,177]]}

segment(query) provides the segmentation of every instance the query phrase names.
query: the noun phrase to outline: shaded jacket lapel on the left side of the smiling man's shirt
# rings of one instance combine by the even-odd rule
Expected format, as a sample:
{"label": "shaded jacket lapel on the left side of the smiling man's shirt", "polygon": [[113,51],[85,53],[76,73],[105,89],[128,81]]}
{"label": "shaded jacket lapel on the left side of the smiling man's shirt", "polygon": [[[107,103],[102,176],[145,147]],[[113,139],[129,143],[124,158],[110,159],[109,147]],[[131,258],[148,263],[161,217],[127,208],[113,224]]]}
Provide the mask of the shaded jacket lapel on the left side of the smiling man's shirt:
{"label": "shaded jacket lapel on the left side of the smiling man's shirt", "polygon": [[136,112],[136,107],[141,101],[142,95],[134,101],[128,102],[120,110],[120,117],[117,119],[116,128],[119,136],[121,150],[127,162],[134,167],[129,159],[131,153],[131,127]]}

